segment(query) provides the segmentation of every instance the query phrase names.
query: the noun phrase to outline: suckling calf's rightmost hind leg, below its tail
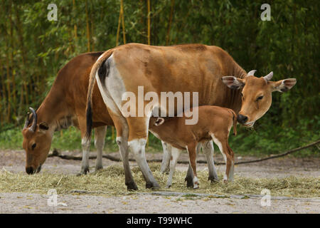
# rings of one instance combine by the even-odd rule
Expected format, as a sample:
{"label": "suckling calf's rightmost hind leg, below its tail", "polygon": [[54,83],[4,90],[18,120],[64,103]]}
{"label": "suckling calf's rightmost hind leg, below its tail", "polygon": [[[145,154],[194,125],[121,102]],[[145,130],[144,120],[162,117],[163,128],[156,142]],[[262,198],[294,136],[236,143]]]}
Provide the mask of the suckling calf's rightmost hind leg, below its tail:
{"label": "suckling calf's rightmost hind leg, below its tail", "polygon": [[213,138],[213,142],[218,145],[225,160],[225,175],[223,175],[223,182],[228,182],[229,180],[233,181],[233,151],[229,150],[228,135],[226,135],[226,137],[215,137],[215,135],[211,134],[211,137]]}

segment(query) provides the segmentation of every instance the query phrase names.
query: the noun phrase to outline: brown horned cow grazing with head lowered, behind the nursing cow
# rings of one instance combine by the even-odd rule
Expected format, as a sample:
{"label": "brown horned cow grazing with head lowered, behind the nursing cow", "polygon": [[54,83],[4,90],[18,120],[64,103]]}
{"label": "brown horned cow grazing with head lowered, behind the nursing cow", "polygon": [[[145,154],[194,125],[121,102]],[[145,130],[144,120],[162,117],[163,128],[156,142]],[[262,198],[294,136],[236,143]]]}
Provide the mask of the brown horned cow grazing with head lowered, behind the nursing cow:
{"label": "brown horned cow grazing with head lowered, behind the nursing cow", "polygon": [[[50,92],[38,110],[31,108],[23,134],[23,149],[26,150],[26,172],[41,170],[50,150],[53,133],[74,125],[85,135],[85,106],[87,87],[92,65],[103,52],[84,53],[69,61],[59,72]],[[97,160],[95,169],[102,168],[102,149],[105,144],[106,125],[113,125],[100,91],[95,86],[92,93],[93,128]],[[90,142],[82,140],[82,165],[80,173],[89,171]]]}

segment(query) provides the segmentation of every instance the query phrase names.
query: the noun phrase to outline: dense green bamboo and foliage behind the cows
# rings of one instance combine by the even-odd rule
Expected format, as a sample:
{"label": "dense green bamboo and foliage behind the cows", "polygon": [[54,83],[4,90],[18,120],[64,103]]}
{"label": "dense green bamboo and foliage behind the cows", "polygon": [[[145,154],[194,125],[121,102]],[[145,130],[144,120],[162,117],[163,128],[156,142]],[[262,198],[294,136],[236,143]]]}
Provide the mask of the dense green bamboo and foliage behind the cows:
{"label": "dense green bamboo and foliage behind the cows", "polygon": [[[63,0],[55,2],[58,21],[48,21],[50,3],[0,3],[0,147],[21,147],[28,107],[41,104],[71,58],[129,42],[220,46],[257,76],[297,78],[289,92],[274,93],[254,131],[230,138],[235,152],[274,153],[319,139],[319,1],[270,1],[271,21],[260,19],[260,1]],[[76,130],[63,134],[74,143],[58,133],[60,147],[80,147]],[[160,147],[153,137],[149,145]]]}

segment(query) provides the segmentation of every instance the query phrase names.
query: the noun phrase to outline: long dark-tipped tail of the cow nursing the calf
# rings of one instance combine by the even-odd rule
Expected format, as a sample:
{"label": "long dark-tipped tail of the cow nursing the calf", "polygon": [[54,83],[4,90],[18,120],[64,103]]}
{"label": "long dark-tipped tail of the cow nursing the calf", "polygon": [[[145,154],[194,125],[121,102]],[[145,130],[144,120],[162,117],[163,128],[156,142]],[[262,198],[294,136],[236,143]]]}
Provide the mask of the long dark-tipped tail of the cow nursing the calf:
{"label": "long dark-tipped tail of the cow nursing the calf", "polygon": [[90,71],[90,77],[89,77],[89,87],[87,89],[87,108],[85,110],[86,112],[86,118],[87,118],[87,130],[85,132],[85,140],[90,140],[91,138],[91,132],[92,132],[92,92],[93,87],[95,86],[95,75],[97,71],[100,69],[103,63],[112,55],[113,51],[108,50],[105,53],[103,53],[93,64],[91,71]]}

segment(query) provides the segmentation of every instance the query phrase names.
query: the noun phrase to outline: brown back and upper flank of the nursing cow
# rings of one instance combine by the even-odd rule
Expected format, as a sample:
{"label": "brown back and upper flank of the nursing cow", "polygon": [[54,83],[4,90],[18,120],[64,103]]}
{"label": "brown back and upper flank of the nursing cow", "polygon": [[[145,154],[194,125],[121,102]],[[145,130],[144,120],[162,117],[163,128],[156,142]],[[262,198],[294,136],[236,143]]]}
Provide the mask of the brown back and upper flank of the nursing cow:
{"label": "brown back and upper flank of the nursing cow", "polygon": [[217,46],[129,43],[114,48],[112,58],[127,90],[135,92],[138,86],[144,86],[144,93],[155,91],[159,95],[169,91],[198,92],[199,105],[231,106],[226,98],[230,89],[220,78],[233,75],[239,66]]}

